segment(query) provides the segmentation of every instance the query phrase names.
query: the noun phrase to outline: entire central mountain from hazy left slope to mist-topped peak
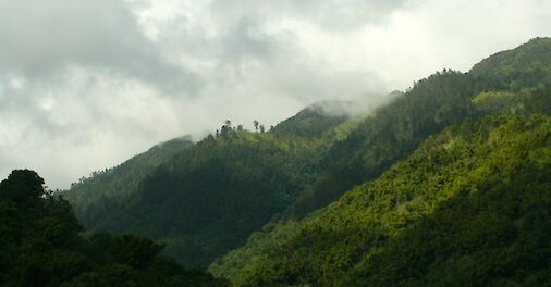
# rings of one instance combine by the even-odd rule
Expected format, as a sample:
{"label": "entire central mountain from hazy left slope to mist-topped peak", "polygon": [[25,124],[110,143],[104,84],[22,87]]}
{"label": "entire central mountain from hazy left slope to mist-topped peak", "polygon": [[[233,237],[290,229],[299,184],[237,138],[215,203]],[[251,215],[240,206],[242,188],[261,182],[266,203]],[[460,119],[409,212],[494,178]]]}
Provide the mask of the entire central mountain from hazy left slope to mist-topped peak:
{"label": "entire central mountain from hazy left slope to mist-topped peak", "polygon": [[348,115],[329,107],[347,105],[313,104],[270,132],[226,123],[216,136],[170,154],[154,148],[94,175],[66,197],[90,230],[148,236],[183,264],[208,266],[278,217],[314,180],[320,155],[347,133]]}

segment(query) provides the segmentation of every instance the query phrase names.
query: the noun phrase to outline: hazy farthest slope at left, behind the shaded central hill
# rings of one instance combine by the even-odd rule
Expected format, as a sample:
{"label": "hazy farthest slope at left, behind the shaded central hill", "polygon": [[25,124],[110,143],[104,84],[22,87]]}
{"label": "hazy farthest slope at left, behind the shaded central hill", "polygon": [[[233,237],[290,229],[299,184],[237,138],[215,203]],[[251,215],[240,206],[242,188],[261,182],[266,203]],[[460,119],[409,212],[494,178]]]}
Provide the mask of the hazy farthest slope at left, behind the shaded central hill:
{"label": "hazy farthest slope at left, behind the shaded central hill", "polygon": [[73,205],[81,223],[90,226],[105,213],[118,209],[121,202],[134,200],[132,192],[140,180],[162,162],[193,145],[189,137],[161,142],[118,166],[83,177],[63,191],[63,196]]}

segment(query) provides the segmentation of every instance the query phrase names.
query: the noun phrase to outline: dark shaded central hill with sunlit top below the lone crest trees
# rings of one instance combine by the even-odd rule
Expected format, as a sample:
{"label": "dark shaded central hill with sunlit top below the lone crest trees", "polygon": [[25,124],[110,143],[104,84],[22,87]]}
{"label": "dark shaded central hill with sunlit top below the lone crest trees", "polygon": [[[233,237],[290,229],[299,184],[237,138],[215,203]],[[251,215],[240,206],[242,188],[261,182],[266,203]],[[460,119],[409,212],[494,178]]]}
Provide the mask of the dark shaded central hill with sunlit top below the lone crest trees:
{"label": "dark shaded central hill with sunlit top below the lone crest trees", "polygon": [[140,183],[139,199],[94,228],[151,236],[208,265],[284,210],[315,176],[325,141],[231,132],[198,142]]}

